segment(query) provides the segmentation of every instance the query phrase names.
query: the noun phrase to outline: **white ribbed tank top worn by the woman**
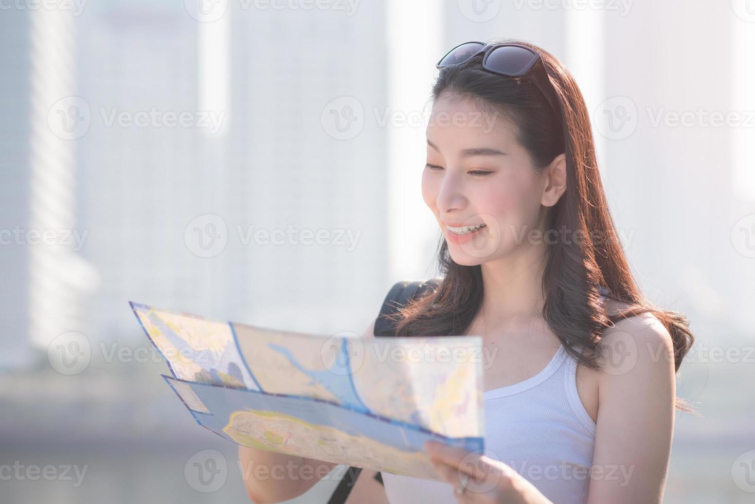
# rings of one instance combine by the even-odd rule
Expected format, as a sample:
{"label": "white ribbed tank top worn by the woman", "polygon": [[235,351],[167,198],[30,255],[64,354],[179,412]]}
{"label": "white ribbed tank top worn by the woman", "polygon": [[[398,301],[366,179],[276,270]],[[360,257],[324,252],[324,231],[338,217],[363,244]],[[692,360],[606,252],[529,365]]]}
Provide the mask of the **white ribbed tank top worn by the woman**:
{"label": "white ribbed tank top worn by the woman", "polygon": [[[607,290],[601,292],[605,300]],[[576,369],[562,345],[540,373],[482,395],[485,454],[559,504],[584,504],[590,487],[595,423],[579,398]],[[457,502],[448,483],[381,475],[391,504]]]}

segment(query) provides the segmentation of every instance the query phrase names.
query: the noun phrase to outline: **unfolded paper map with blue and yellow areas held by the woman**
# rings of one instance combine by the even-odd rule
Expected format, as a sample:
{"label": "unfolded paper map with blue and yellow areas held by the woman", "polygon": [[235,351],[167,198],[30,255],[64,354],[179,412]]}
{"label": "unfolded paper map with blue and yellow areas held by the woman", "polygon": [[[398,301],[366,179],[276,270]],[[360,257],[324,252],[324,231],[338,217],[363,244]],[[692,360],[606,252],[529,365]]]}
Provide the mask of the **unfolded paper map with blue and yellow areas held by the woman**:
{"label": "unfolded paper map with blue and yellow areas held by the woman", "polygon": [[483,449],[480,337],[327,337],[131,309],[196,422],[236,444],[435,480],[425,441]]}

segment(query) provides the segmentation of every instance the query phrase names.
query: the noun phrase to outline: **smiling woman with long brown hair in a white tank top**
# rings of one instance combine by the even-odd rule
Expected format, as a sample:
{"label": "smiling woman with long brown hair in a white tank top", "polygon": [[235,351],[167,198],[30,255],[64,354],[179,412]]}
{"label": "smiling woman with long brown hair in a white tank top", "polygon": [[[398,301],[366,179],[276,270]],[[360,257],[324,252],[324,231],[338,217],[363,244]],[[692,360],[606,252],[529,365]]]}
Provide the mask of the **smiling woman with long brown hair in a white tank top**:
{"label": "smiling woman with long brown hair in a white tank top", "polygon": [[675,407],[693,413],[675,373],[694,337],[632,278],[572,75],[513,40],[437,66],[422,196],[442,282],[396,333],[482,336],[485,452],[428,443],[443,481],[384,472],[387,498],[661,502]]}

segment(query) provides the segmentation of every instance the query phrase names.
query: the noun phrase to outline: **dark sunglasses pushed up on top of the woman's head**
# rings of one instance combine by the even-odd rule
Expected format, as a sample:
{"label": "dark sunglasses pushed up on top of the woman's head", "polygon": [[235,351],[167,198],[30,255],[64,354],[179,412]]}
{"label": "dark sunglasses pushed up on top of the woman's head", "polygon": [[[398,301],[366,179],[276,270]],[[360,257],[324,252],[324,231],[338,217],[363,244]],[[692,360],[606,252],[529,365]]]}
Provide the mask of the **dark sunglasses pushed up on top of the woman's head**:
{"label": "dark sunglasses pushed up on top of the woman's head", "polygon": [[483,53],[482,68],[488,72],[506,75],[507,77],[525,77],[535,85],[541,94],[548,100],[550,108],[560,115],[558,100],[553,86],[550,84],[545,64],[538,51],[525,45],[500,42],[498,44],[485,44],[485,42],[464,42],[448,51],[440,59],[436,68],[455,66],[464,63],[471,57]]}

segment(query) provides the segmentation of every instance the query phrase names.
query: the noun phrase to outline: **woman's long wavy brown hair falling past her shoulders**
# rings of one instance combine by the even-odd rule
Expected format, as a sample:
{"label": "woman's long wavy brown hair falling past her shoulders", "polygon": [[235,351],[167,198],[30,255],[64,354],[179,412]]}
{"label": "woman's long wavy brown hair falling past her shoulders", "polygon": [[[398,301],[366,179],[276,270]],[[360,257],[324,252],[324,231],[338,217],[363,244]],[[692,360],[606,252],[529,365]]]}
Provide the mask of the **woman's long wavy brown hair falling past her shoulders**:
{"label": "woman's long wavy brown hair falling past her shoulders", "polygon": [[[473,100],[482,110],[503,113],[516,124],[517,140],[538,171],[565,152],[567,188],[550,209],[547,229],[572,230],[574,235],[588,239],[558,239],[548,244],[542,284],[544,321],[569,355],[590,369],[600,370],[596,352],[602,330],[620,318],[652,313],[670,333],[678,372],[695,337],[683,314],[652,306],[634,281],[603,191],[590,116],[574,78],[552,54],[529,42],[497,41],[526,45],[541,54],[562,118],[526,79],[502,77],[482,69],[482,55],[442,68],[431,99],[446,93]],[[437,289],[399,311],[396,335],[464,334],[472,324],[482,304],[482,269],[455,263],[445,238],[439,243],[438,260],[442,281]],[[610,298],[626,303],[627,309],[607,315],[601,287],[607,287]],[[676,398],[676,409],[698,414],[680,398]]]}

